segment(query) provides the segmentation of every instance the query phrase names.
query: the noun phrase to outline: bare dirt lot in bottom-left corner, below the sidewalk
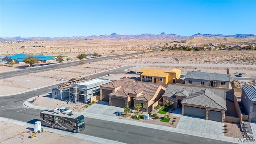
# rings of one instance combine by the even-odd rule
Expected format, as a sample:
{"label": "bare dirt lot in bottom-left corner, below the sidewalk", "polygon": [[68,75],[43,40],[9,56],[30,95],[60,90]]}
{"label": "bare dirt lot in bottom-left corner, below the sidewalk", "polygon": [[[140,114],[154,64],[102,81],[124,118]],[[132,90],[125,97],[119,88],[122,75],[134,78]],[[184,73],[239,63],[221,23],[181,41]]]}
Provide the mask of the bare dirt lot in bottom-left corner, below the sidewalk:
{"label": "bare dirt lot in bottom-left corner, below the sidewalk", "polygon": [[37,133],[36,138],[32,139],[32,129],[10,124],[8,122],[0,121],[1,127],[1,144],[96,144],[96,142],[90,142],[71,136],[65,136],[62,134],[55,134],[52,132]]}

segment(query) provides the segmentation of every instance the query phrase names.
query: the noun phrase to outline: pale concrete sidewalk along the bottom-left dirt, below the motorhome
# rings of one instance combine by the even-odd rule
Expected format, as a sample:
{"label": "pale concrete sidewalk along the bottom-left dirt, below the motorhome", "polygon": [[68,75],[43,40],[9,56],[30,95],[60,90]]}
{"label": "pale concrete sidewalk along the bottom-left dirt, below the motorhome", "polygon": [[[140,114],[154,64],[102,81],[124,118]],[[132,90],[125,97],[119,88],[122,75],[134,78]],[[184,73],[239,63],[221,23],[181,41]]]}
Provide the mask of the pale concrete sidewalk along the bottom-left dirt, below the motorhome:
{"label": "pale concrete sidewalk along the bottom-left dirt, below the motorhome", "polygon": [[[34,124],[21,122],[21,121],[18,121],[18,120],[12,120],[12,119],[3,118],[3,117],[0,117],[0,120],[2,122],[9,122],[9,123],[16,124],[16,125],[19,125],[19,126],[26,126],[28,128],[34,128]],[[107,140],[107,139],[104,139],[104,138],[88,136],[88,135],[80,134],[80,133],[75,134],[75,133],[64,131],[64,130],[49,128],[49,127],[46,127],[46,126],[42,126],[42,128],[44,129],[44,131],[54,132],[56,134],[62,134],[62,135],[65,135],[65,136],[72,136],[72,137],[75,137],[75,138],[80,138],[82,140],[88,140],[88,141],[91,141],[91,142],[98,142],[100,144],[124,144],[122,142],[116,142],[116,141],[113,141],[113,140]]]}

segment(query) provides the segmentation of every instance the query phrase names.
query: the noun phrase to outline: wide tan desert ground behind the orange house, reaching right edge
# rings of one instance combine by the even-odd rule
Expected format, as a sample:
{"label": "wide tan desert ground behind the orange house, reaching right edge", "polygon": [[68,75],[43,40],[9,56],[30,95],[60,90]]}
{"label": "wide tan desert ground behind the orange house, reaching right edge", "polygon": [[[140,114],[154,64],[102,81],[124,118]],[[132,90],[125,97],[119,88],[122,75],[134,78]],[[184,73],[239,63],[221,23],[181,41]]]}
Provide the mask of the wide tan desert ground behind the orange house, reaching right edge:
{"label": "wide tan desert ground behind the orange house, reaching right edge", "polygon": [[139,65],[139,67],[131,69],[134,71],[140,71],[141,68],[178,68],[182,70],[182,74],[195,69],[226,74],[227,68],[229,68],[231,76],[245,73],[244,77],[256,77],[256,51],[248,50],[199,52],[165,50],[126,58],[116,58],[108,60],[109,62]]}

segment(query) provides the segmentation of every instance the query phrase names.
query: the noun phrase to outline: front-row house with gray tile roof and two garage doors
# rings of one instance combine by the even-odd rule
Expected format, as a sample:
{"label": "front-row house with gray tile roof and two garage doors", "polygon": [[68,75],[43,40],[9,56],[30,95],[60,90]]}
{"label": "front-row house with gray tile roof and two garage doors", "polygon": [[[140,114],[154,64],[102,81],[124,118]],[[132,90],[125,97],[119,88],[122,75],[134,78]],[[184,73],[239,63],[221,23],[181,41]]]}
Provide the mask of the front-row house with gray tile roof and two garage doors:
{"label": "front-row house with gray tile roof and two garage doors", "polygon": [[224,122],[226,113],[226,92],[221,89],[170,84],[163,97],[163,103],[173,101],[173,107],[182,107],[182,114]]}

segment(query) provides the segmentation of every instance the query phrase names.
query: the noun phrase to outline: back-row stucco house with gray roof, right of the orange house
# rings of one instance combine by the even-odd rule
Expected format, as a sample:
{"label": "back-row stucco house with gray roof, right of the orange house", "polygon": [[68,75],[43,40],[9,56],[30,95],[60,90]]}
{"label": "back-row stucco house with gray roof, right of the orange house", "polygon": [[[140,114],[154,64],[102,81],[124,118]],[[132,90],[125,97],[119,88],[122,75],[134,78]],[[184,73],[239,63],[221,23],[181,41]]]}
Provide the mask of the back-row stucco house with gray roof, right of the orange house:
{"label": "back-row stucco house with gray roof, right of the orange house", "polygon": [[211,73],[203,70],[187,72],[185,84],[217,88],[230,88],[231,86],[229,74]]}

